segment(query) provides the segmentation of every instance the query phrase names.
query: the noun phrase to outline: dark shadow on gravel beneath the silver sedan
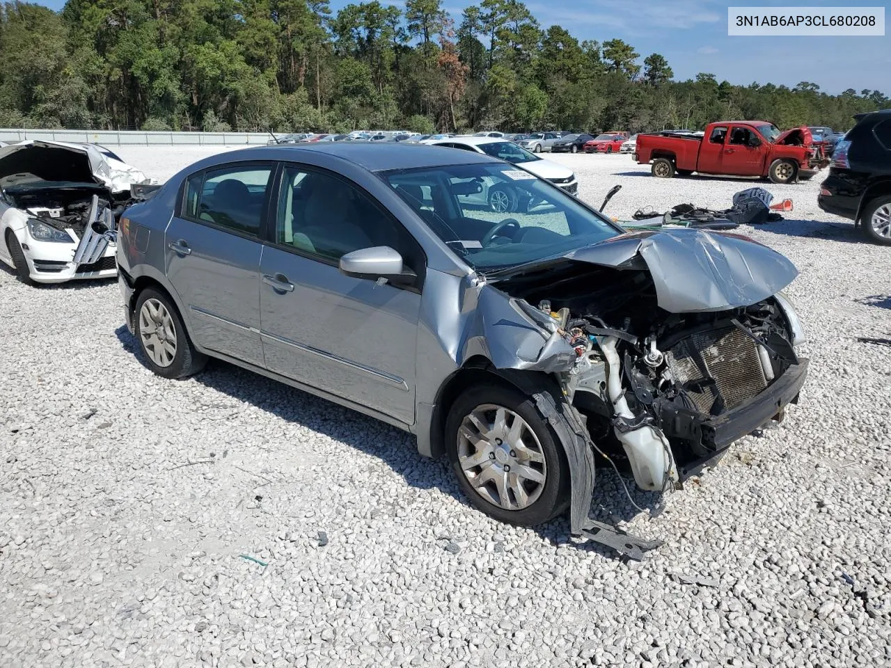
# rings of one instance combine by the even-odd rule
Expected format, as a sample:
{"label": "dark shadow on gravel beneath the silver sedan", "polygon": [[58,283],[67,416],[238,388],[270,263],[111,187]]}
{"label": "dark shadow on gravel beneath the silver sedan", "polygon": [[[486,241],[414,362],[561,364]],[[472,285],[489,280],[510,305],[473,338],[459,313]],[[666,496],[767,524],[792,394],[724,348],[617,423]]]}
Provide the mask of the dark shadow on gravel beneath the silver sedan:
{"label": "dark shadow on gravel beneath the silver sedan", "polygon": [[[135,337],[127,330],[127,326],[120,326],[115,330],[115,334],[121,346],[128,353],[134,354],[139,363],[147,366],[142,350],[137,345]],[[472,508],[455,481],[447,458],[430,460],[421,456],[414,437],[397,428],[389,427],[379,420],[365,417],[359,412],[303,392],[296,387],[267,379],[253,371],[213,358],[208,361],[204,371],[194,376],[194,380],[282,420],[311,428],[331,439],[371,454],[402,476],[408,485],[417,489],[437,489]],[[599,461],[598,467],[591,506],[593,519],[615,525],[618,521],[629,521],[639,515],[640,510],[635,509],[628,500],[616,472],[606,461]],[[654,509],[658,506],[661,494],[642,492],[634,487],[634,479],[630,475],[623,475],[623,478],[638,506],[643,509]],[[599,543],[571,542],[568,516],[536,526],[534,531],[554,546],[576,545],[580,550],[595,552],[605,558],[620,559],[614,550]]]}

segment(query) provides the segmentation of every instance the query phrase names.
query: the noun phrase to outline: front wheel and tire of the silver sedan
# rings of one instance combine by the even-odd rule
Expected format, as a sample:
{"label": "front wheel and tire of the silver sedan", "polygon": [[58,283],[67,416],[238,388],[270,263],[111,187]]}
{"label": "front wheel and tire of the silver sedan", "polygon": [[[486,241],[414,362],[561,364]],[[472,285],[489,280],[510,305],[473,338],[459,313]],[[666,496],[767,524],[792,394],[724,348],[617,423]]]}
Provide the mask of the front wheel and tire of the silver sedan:
{"label": "front wheel and tire of the silver sedan", "polygon": [[[501,431],[495,427],[499,410],[505,411]],[[513,427],[520,429],[517,441],[523,450],[511,449],[508,444]],[[480,436],[486,429],[491,440]],[[476,444],[465,436],[468,434],[478,437]],[[459,396],[446,419],[446,450],[462,491],[489,517],[535,526],[557,517],[568,505],[569,469],[562,447],[535,402],[517,389],[484,383]],[[466,472],[464,466],[468,466]],[[491,478],[478,486],[471,483],[483,476]],[[500,487],[499,480],[503,481]]]}

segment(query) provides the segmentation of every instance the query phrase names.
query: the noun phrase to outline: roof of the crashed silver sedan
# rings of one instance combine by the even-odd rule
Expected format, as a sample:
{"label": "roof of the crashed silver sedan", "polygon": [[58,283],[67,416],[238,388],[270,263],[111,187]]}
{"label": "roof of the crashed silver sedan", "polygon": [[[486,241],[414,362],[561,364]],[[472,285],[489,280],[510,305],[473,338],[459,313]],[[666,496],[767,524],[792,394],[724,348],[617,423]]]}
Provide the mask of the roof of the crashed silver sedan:
{"label": "roof of the crashed silver sedan", "polygon": [[[482,139],[479,137],[479,139]],[[499,141],[499,140],[490,140]],[[501,140],[503,141],[503,140]],[[233,160],[301,160],[307,153],[324,153],[351,162],[370,172],[388,169],[412,169],[413,167],[444,167],[484,162],[501,162],[484,153],[446,151],[436,144],[417,143],[352,143],[329,142],[291,145],[257,146],[239,151],[226,151],[215,156],[216,164]],[[237,156],[237,158],[235,157]],[[203,162],[203,161],[202,161]]]}

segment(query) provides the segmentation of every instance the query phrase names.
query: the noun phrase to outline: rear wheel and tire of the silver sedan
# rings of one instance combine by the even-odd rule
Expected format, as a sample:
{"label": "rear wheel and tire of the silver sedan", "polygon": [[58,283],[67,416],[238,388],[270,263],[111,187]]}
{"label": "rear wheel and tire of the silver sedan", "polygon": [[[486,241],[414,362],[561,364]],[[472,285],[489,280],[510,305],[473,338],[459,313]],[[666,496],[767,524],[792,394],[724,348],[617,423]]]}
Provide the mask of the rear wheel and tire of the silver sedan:
{"label": "rear wheel and tire of the silver sedan", "polygon": [[[185,330],[173,300],[158,289],[146,288],[136,299],[134,329],[145,363],[162,378],[180,379],[204,368],[207,355],[200,353]],[[154,329],[145,330],[154,325]],[[160,334],[158,328],[160,327]],[[171,336],[172,334],[172,336]],[[153,338],[152,338],[153,337]],[[166,344],[173,340],[173,352]]]}

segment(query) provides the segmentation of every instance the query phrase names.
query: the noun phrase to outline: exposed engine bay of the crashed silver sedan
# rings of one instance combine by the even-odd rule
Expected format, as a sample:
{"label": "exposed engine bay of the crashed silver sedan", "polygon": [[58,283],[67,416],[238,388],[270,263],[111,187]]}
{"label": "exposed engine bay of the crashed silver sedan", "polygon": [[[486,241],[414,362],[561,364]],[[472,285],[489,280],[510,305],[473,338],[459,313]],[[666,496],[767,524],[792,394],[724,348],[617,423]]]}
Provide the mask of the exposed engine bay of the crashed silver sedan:
{"label": "exposed engine bay of the crashed silver sedan", "polygon": [[676,313],[659,305],[650,272],[583,263],[552,268],[547,284],[530,274],[498,288],[537,306],[575,351],[576,363],[558,372],[564,394],[595,447],[624,452],[642,489],[682,481],[732,441],[781,419],[781,407],[751,404],[801,364],[797,323],[780,295]]}

